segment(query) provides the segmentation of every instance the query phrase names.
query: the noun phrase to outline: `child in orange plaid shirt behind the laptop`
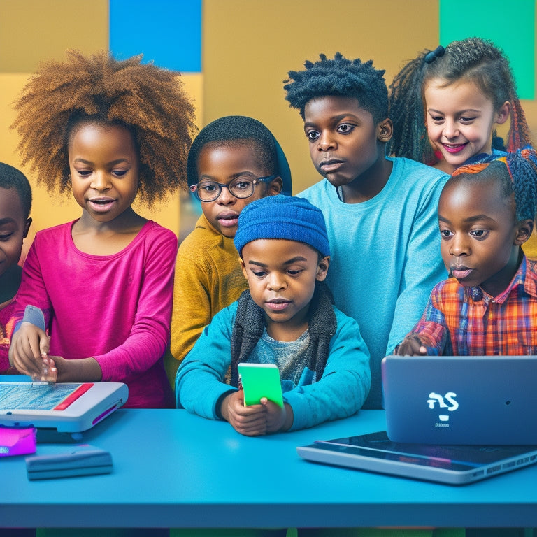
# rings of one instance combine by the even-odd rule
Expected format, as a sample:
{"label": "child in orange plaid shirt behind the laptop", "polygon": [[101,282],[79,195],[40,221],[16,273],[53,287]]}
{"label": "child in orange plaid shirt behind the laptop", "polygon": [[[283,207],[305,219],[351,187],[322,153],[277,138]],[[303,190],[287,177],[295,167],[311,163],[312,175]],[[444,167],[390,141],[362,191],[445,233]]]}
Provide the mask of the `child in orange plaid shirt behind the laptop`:
{"label": "child in orange plaid shirt behind the laptop", "polygon": [[440,196],[438,283],[398,355],[536,355],[537,262],[522,252],[534,227],[537,155],[519,150],[461,166]]}

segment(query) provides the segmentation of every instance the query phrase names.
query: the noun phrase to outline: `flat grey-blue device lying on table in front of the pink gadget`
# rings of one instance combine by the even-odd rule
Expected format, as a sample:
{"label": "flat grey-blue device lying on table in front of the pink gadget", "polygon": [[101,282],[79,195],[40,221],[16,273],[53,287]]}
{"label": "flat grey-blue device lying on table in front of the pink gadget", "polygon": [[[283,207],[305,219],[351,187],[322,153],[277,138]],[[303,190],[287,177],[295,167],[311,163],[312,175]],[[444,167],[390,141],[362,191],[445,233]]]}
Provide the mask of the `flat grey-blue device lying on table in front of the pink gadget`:
{"label": "flat grey-blue device lying on table in front of the pink gadget", "polygon": [[29,480],[70,478],[112,471],[112,456],[92,445],[78,445],[59,454],[26,457]]}

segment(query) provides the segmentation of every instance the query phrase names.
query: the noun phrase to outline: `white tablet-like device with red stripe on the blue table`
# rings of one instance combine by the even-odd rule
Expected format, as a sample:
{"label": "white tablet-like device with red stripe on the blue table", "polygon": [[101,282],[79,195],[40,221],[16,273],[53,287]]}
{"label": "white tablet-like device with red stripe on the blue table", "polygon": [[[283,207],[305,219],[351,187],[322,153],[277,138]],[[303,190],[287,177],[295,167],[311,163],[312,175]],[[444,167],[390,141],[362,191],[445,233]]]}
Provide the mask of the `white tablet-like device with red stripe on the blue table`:
{"label": "white tablet-like device with red stripe on the blue table", "polygon": [[128,396],[122,382],[0,382],[0,425],[79,433],[124,405]]}

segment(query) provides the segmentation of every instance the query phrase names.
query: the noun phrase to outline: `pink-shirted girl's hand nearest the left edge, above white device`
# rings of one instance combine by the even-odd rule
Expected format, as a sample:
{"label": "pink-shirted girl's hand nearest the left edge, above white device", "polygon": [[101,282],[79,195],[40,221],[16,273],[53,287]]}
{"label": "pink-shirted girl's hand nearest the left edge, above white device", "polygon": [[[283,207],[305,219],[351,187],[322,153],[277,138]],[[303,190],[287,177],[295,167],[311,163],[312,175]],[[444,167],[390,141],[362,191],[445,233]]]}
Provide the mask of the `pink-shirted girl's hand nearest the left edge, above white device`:
{"label": "pink-shirted girl's hand nearest the left edge, above white device", "polygon": [[45,331],[31,322],[23,322],[13,335],[9,362],[20,373],[29,375],[34,380],[55,381],[55,363],[48,357],[48,350],[49,338]]}

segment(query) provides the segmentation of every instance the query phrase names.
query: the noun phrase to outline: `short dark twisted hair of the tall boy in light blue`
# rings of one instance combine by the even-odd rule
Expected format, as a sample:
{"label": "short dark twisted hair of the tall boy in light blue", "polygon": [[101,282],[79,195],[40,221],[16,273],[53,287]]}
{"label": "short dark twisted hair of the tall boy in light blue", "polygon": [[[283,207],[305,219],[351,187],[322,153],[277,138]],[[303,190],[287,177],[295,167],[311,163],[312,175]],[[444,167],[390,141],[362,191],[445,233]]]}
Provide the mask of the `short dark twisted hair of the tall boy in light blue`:
{"label": "short dark twisted hair of the tall boy in light blue", "polygon": [[304,71],[289,71],[289,80],[284,80],[285,99],[292,108],[300,110],[304,118],[304,108],[311,99],[324,96],[351,97],[373,115],[375,123],[388,117],[388,90],[384,70],[375,69],[373,60],[346,59],[336,52],[334,59],[320,54],[320,59],[307,61]]}

